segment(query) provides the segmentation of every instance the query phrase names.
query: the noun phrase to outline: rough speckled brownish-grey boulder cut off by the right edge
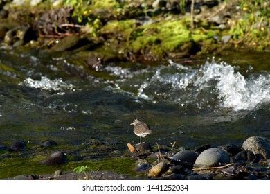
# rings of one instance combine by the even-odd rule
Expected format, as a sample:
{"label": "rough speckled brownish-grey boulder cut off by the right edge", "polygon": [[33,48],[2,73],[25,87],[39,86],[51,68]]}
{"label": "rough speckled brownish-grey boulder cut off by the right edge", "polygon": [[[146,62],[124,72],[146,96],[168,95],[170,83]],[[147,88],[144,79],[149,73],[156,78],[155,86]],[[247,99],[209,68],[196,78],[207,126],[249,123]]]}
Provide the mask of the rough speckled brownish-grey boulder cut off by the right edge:
{"label": "rough speckled brownish-grey boulder cut off by the right edge", "polygon": [[270,142],[267,138],[251,136],[244,141],[242,148],[244,150],[250,150],[254,154],[261,154],[265,159],[270,158]]}

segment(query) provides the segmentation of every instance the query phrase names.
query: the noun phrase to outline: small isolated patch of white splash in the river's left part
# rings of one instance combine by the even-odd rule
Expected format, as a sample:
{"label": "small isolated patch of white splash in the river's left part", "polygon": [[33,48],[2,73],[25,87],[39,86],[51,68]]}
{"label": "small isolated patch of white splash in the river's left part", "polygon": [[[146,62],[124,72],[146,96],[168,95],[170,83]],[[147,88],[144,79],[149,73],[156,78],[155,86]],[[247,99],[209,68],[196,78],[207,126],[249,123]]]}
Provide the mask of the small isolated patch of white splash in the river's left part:
{"label": "small isolated patch of white splash in the river's left part", "polygon": [[42,76],[41,80],[33,80],[31,78],[26,78],[19,85],[25,85],[26,87],[31,87],[35,89],[44,89],[48,91],[62,91],[63,89],[74,89],[73,85],[66,84],[62,79],[50,80],[45,76]]}

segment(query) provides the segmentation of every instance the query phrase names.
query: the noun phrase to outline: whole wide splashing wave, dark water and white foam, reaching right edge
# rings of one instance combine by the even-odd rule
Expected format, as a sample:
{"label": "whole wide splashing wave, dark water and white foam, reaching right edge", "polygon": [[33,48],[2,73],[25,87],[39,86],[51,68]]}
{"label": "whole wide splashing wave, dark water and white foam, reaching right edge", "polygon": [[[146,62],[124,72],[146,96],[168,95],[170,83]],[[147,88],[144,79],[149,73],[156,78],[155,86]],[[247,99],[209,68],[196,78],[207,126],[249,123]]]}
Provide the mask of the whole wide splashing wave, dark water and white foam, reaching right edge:
{"label": "whole wide splashing wave, dark water and white foam, reaching right edge", "polygon": [[[270,76],[242,73],[226,62],[206,62],[197,68],[174,64],[153,68],[152,76],[138,87],[137,96],[178,105],[196,104],[198,109],[253,110],[270,103]],[[146,74],[145,74],[146,76]]]}

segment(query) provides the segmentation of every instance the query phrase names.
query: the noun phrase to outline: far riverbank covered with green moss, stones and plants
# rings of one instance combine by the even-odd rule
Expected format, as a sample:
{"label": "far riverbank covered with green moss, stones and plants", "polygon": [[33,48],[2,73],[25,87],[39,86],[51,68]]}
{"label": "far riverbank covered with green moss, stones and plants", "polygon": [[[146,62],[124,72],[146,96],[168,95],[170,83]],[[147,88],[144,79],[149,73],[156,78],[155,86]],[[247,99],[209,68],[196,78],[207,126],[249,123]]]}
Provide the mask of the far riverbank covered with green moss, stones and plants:
{"label": "far riverbank covered with green moss, stones and plants", "polygon": [[2,1],[0,44],[81,53],[94,69],[101,62],[167,61],[234,48],[270,51],[269,7],[241,0]]}

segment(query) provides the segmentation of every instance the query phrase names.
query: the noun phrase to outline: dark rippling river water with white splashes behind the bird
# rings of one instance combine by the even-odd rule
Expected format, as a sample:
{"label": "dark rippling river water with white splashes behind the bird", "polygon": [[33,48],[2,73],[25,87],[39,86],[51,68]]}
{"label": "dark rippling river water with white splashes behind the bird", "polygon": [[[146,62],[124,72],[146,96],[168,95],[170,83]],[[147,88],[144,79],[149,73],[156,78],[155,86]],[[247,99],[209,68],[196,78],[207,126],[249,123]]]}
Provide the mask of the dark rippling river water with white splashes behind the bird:
{"label": "dark rippling river water with white splashes behind the bird", "polygon": [[152,145],[194,149],[270,138],[268,53],[99,69],[71,61],[67,53],[0,51],[0,142],[98,139],[127,150],[139,141],[134,118],[150,125]]}

